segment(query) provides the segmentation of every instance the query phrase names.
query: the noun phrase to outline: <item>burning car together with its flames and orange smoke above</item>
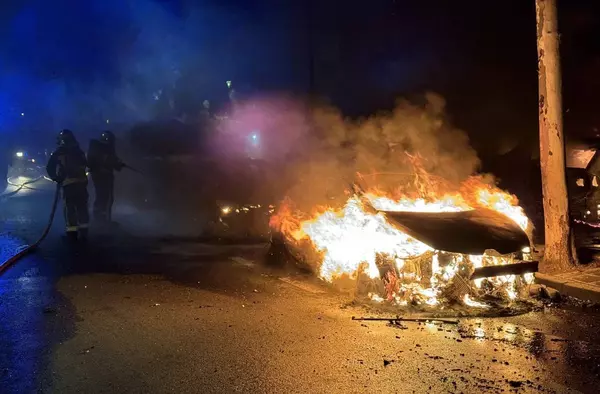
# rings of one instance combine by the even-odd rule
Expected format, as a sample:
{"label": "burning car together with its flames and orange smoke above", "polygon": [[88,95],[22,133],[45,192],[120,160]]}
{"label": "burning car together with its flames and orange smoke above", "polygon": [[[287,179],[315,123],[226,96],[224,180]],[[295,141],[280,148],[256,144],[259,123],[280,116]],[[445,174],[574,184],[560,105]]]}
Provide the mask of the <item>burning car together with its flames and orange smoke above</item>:
{"label": "burning car together with its flames and orange smoke above", "polygon": [[[275,254],[396,311],[440,316],[526,303],[538,269],[531,222],[515,196],[471,175],[475,153],[443,119],[443,101],[403,102],[355,123],[327,111],[314,118],[324,134],[270,219]],[[326,187],[316,201],[323,183],[348,179],[341,198]]]}

